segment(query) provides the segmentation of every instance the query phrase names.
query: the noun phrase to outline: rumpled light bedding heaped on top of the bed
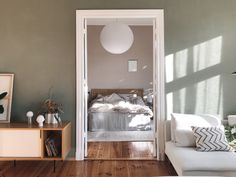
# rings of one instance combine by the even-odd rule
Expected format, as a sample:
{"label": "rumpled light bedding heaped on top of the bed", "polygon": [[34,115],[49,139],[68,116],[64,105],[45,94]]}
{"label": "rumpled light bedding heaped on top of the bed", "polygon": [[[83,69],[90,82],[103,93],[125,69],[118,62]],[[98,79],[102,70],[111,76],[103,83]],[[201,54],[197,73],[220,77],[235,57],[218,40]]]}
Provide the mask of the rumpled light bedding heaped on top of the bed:
{"label": "rumpled light bedding heaped on top of the bed", "polygon": [[153,116],[152,110],[144,104],[141,97],[115,93],[104,97],[98,96],[93,100],[89,112],[120,112]]}

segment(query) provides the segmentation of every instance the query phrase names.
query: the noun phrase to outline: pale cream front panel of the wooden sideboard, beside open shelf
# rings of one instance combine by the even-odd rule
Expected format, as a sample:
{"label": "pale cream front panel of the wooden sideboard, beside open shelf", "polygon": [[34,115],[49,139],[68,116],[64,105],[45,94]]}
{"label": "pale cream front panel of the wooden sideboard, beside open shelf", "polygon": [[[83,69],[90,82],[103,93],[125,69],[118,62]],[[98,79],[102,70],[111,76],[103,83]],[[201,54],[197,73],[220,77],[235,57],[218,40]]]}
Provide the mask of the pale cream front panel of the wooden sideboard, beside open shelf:
{"label": "pale cream front panel of the wooden sideboard, beside open shelf", "polygon": [[40,130],[0,130],[0,157],[41,157]]}

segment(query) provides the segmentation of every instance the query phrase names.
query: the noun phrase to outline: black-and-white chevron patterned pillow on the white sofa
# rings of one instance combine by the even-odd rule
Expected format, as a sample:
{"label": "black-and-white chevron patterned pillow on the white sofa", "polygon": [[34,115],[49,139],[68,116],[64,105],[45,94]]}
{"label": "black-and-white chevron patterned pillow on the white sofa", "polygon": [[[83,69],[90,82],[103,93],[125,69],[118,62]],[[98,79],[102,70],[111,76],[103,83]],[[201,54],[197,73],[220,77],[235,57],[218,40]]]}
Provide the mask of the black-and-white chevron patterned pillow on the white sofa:
{"label": "black-and-white chevron patterned pillow on the white sofa", "polygon": [[220,127],[192,127],[197,151],[233,151]]}

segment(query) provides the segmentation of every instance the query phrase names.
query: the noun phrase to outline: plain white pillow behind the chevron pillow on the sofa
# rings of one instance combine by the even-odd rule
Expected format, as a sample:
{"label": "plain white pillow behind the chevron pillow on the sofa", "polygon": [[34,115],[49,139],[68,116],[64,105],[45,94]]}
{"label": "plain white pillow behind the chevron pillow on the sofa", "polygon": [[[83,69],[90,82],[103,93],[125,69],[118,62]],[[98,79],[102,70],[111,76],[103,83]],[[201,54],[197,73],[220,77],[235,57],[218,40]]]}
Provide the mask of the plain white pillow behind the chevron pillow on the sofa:
{"label": "plain white pillow behind the chevron pillow on the sofa", "polygon": [[195,146],[195,137],[192,126],[197,127],[218,127],[221,125],[218,116],[204,114],[171,114],[171,136],[176,146]]}

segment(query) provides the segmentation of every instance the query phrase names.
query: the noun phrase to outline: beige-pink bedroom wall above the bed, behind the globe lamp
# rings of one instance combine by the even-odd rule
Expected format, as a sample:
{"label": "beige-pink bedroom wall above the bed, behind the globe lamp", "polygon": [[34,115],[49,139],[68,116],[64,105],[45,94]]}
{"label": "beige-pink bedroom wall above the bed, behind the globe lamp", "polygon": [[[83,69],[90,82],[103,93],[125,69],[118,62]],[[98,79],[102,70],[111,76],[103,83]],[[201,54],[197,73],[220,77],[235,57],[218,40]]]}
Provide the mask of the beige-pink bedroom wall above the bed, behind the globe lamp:
{"label": "beige-pink bedroom wall above the bed, behind the globe lamp", "polygon": [[[100,43],[103,26],[88,27],[88,86],[91,88],[152,88],[152,26],[132,26],[134,43],[123,54],[108,53]],[[128,72],[128,60],[138,71]]]}

